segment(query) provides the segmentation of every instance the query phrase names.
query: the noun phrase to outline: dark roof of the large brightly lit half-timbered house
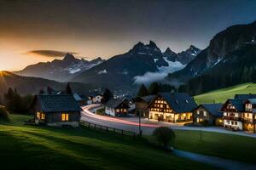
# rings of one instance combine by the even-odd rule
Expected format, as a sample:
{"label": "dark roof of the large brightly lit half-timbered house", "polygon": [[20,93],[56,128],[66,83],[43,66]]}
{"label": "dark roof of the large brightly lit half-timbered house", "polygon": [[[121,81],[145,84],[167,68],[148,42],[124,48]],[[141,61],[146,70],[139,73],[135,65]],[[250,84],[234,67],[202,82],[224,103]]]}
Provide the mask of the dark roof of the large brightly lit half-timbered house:
{"label": "dark roof of the large brightly lit half-timbered house", "polygon": [[166,99],[166,102],[171,105],[173,111],[177,113],[193,111],[197,105],[194,99],[185,93],[160,93],[157,96]]}

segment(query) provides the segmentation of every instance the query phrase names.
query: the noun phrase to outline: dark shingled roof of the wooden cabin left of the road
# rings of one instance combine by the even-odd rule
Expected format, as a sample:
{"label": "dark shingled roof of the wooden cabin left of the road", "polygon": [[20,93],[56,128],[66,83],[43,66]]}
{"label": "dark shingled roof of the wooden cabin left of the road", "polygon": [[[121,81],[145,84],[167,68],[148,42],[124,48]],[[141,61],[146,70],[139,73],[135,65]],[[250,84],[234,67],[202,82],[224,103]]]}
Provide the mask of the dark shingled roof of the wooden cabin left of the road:
{"label": "dark shingled roof of the wooden cabin left of the road", "polygon": [[36,99],[44,112],[81,111],[72,94],[41,94]]}

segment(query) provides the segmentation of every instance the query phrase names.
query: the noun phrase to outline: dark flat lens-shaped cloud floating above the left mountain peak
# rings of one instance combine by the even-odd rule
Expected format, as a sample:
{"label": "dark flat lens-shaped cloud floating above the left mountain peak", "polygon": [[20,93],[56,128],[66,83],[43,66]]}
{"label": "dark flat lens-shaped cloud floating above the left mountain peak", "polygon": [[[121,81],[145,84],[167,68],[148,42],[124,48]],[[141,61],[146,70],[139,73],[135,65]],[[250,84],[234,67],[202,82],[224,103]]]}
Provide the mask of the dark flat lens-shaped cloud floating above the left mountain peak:
{"label": "dark flat lens-shaped cloud floating above the left mountain peak", "polygon": [[63,57],[67,53],[79,54],[76,52],[65,52],[65,51],[47,50],[47,49],[31,50],[26,52],[26,54],[39,54],[39,55],[44,55],[46,57]]}

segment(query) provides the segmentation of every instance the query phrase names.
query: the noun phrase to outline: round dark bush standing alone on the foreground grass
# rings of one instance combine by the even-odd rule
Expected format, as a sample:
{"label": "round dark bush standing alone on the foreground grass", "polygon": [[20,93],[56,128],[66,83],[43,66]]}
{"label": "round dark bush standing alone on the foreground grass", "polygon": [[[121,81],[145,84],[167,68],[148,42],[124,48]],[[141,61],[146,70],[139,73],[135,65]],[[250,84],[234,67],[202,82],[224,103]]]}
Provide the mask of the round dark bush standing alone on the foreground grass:
{"label": "round dark bush standing alone on the foreground grass", "polygon": [[157,127],[153,132],[154,137],[167,148],[168,144],[175,139],[175,133],[169,127]]}

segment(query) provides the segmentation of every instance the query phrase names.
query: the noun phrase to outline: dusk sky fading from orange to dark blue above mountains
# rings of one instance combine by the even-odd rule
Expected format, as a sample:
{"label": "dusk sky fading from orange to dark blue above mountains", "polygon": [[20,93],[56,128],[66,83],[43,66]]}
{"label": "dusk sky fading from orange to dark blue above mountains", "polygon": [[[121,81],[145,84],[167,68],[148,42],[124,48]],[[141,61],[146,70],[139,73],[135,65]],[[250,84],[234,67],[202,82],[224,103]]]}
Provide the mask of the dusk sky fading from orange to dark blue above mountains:
{"label": "dusk sky fading from orange to dark blue above mountains", "polygon": [[0,70],[67,53],[108,59],[137,42],[207,48],[228,26],[256,20],[256,0],[0,0]]}

